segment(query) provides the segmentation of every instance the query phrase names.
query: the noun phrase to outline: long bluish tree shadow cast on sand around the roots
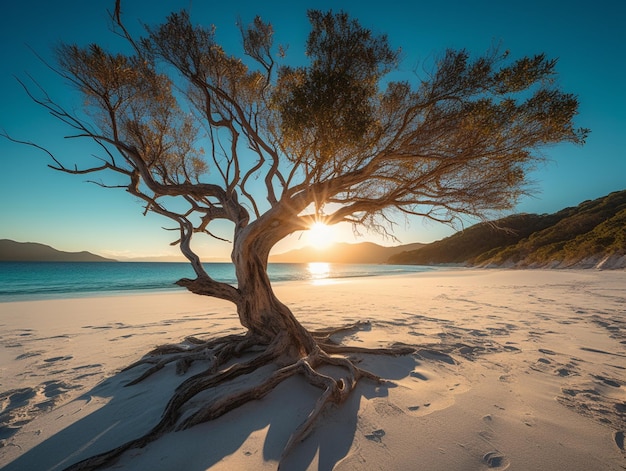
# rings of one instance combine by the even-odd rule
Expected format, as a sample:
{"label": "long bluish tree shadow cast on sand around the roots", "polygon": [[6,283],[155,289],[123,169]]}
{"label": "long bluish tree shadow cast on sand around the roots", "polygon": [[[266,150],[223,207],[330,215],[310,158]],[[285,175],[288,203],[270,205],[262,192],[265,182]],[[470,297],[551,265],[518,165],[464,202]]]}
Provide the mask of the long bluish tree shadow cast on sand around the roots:
{"label": "long bluish tree shadow cast on sand around the roots", "polygon": [[[294,376],[279,384],[262,399],[251,401],[222,417],[190,429],[170,432],[143,448],[131,449],[113,464],[122,469],[205,470],[220,461],[234,459],[245,469],[259,465],[275,469],[332,469],[347,456],[357,431],[362,399],[386,397],[394,381],[411,375],[420,363],[418,354],[399,357],[360,355],[368,370],[387,381],[377,384],[361,381],[339,406],[325,408],[312,433],[282,458],[290,435],[307,418],[319,397],[319,389]],[[168,399],[189,375],[202,370],[199,362],[185,376],[177,376],[174,366],[152,375],[139,384],[124,387],[141,374],[141,368],[120,372],[88,393],[52,412],[59,420],[69,417],[69,425],[32,448],[5,468],[62,470],[90,456],[105,452],[146,433],[160,419]],[[145,365],[142,367],[145,368]],[[272,372],[262,367],[232,380],[193,401],[210,401],[261,382]],[[333,374],[327,367],[326,374]],[[71,416],[79,414],[79,420]],[[262,453],[262,456],[259,456]]]}

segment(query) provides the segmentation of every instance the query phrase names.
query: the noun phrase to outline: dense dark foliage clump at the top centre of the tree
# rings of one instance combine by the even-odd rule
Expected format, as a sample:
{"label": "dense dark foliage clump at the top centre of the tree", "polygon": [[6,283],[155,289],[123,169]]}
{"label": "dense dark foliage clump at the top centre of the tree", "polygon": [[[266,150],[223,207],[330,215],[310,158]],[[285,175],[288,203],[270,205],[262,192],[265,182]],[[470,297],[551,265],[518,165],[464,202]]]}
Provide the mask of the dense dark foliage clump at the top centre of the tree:
{"label": "dense dark foliage clump at the top centre of the tree", "polygon": [[380,79],[398,53],[386,36],[375,36],[346,13],[308,12],[308,67],[281,68],[275,104],[288,147],[315,148],[318,162],[362,143],[377,126]]}

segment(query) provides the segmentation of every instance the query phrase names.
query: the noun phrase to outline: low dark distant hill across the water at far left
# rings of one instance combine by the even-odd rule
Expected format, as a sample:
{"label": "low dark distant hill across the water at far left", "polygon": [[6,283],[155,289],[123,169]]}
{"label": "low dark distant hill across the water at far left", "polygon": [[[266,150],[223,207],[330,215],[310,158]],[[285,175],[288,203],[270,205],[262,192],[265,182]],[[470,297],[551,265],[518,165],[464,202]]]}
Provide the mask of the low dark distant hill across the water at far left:
{"label": "low dark distant hill across the water at far left", "polygon": [[44,244],[0,240],[0,262],[115,262],[89,252],[62,252]]}

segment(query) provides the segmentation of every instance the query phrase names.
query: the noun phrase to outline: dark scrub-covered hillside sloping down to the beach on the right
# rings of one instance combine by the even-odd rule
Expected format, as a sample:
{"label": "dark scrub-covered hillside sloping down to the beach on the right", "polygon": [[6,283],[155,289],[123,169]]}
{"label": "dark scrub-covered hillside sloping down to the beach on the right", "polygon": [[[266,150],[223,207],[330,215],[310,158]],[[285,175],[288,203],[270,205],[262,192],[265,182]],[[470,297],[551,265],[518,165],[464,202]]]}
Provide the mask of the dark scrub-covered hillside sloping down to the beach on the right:
{"label": "dark scrub-covered hillside sloping down to the beach on the right", "polygon": [[392,256],[389,263],[626,268],[626,190],[554,214],[481,223]]}

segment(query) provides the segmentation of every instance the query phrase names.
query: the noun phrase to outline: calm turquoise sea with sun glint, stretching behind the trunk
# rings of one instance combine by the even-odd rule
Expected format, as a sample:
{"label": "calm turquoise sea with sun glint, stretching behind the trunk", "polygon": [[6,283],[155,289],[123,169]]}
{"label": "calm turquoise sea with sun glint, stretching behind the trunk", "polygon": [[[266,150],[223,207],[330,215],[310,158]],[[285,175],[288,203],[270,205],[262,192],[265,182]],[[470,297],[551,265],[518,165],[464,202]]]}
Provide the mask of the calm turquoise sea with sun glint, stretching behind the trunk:
{"label": "calm turquoise sea with sun glint, stretching behind the trunk", "polygon": [[[206,263],[207,273],[236,285],[231,263]],[[319,283],[343,278],[435,270],[416,265],[270,263],[272,283]],[[180,291],[180,278],[195,278],[188,263],[161,262],[0,262],[0,302]]]}

